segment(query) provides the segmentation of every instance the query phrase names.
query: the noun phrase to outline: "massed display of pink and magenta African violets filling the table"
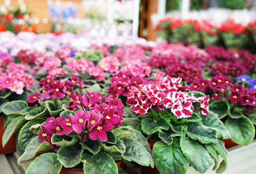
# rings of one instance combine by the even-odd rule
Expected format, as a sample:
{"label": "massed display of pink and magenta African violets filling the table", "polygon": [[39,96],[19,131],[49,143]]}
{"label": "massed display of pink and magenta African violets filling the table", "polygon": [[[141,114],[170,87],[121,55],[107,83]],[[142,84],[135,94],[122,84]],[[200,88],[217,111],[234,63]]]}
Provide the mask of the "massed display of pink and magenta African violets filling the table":
{"label": "massed display of pink and magenta African violets filling the table", "polygon": [[2,144],[17,135],[18,163],[44,152],[28,174],[117,173],[121,159],[161,174],[189,165],[222,173],[223,139],[249,145],[255,135],[256,57],[248,51],[105,44],[0,58]]}

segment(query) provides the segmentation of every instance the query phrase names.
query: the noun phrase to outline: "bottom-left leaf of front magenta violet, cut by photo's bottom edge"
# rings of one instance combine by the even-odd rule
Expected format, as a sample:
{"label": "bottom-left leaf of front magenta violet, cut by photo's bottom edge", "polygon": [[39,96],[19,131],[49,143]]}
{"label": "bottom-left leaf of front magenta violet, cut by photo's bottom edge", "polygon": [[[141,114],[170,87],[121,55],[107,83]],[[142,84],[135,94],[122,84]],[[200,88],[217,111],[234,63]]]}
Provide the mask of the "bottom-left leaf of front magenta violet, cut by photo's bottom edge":
{"label": "bottom-left leaf of front magenta violet, cut by photo's bottom edge", "polygon": [[46,153],[41,154],[39,157],[29,165],[26,174],[58,174],[62,168],[57,154]]}

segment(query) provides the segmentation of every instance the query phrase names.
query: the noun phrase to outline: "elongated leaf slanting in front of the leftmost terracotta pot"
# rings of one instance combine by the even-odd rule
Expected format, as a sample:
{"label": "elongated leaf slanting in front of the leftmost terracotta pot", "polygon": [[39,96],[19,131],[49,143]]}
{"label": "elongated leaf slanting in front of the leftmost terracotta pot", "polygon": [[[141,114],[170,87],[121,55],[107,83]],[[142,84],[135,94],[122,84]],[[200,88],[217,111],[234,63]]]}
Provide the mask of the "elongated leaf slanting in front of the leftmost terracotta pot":
{"label": "elongated leaf slanting in front of the leftmost terracotta pot", "polygon": [[3,138],[2,138],[3,147],[9,141],[11,136],[17,130],[19,130],[25,123],[26,123],[26,120],[24,119],[24,116],[19,116],[19,117],[12,120],[12,122],[6,127],[6,130],[3,133]]}

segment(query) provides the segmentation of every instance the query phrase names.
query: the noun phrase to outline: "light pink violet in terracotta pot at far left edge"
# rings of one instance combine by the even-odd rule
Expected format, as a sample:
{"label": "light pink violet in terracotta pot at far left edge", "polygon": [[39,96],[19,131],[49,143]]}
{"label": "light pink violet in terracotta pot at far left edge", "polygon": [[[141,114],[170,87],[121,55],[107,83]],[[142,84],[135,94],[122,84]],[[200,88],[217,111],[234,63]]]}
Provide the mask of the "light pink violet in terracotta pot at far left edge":
{"label": "light pink violet in terracotta pot at far left edge", "polygon": [[[32,91],[34,78],[29,74],[30,68],[26,65],[12,63],[14,58],[9,53],[0,52],[3,73],[0,73],[0,139],[4,136],[4,129],[17,116],[15,111],[3,109],[6,104],[14,100],[26,99]],[[15,108],[14,108],[15,109]],[[10,113],[12,116],[8,117]],[[17,131],[17,130],[16,130]],[[0,145],[0,154],[16,151],[16,134],[9,135],[10,142],[6,147]]]}

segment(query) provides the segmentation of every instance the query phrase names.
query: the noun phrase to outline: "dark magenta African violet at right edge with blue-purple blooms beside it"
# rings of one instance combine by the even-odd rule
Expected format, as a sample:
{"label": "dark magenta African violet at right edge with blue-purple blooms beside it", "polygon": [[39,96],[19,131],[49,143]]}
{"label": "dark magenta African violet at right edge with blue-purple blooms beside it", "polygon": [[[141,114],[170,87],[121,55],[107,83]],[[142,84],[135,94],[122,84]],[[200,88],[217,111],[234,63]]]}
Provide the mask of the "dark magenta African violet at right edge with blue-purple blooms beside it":
{"label": "dark magenta African violet at right edge with blue-purple blooms beside it", "polygon": [[[236,78],[237,83],[225,75],[215,75],[211,80],[198,79],[189,86],[194,92],[198,90],[204,93],[212,93],[212,103],[209,110],[217,114],[219,119],[225,122],[225,127],[230,132],[233,142],[241,145],[249,145],[255,136],[256,120],[256,92],[253,90],[253,81],[246,75]],[[249,82],[252,87],[245,82]],[[211,92],[212,91],[212,92]],[[198,93],[198,92],[195,92]],[[200,93],[200,92],[199,92]]]}

